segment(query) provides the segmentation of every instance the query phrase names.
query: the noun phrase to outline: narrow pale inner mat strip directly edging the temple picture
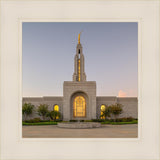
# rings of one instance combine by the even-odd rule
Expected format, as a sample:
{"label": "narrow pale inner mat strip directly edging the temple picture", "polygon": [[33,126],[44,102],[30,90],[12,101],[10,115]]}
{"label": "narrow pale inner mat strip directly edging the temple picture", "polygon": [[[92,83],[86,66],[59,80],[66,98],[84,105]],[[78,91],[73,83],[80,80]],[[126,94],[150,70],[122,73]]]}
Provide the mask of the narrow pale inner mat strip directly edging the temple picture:
{"label": "narrow pale inner mat strip directly edging the temple picture", "polygon": [[140,140],[141,137],[141,87],[142,81],[141,81],[141,74],[142,74],[142,53],[141,53],[141,47],[138,47],[138,138],[22,138],[22,23],[23,22],[136,22],[138,23],[138,46],[141,46],[141,19],[19,19],[19,133],[18,136],[19,141],[137,141]]}

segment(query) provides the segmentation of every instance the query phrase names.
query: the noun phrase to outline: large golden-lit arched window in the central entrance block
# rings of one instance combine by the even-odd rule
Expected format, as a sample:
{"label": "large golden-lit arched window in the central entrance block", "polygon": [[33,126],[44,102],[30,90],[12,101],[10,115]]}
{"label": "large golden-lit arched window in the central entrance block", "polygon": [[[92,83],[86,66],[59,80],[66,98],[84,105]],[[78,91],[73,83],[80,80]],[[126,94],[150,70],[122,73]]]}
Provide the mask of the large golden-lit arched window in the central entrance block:
{"label": "large golden-lit arched window in the central entrance block", "polygon": [[86,117],[86,100],[83,96],[77,96],[73,100],[73,116]]}

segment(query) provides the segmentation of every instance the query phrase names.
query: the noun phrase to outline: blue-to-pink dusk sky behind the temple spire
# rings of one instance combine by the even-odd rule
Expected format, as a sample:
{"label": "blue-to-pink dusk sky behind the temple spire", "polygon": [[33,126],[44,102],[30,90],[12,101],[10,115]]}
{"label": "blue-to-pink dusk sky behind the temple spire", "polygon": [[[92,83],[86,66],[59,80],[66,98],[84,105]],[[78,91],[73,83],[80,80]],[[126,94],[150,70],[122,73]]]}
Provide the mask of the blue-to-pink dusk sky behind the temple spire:
{"label": "blue-to-pink dusk sky behind the temple spire", "polygon": [[23,97],[63,96],[81,31],[85,73],[97,96],[137,96],[136,22],[23,22]]}

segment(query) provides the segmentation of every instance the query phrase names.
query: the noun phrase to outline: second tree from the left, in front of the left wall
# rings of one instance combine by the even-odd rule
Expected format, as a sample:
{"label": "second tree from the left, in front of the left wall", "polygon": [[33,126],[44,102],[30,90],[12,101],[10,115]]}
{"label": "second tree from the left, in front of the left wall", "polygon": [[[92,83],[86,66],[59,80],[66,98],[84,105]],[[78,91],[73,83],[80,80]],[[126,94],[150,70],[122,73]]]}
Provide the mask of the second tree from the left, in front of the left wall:
{"label": "second tree from the left, in front of the left wall", "polygon": [[47,104],[40,104],[38,106],[38,109],[37,109],[37,113],[39,116],[42,116],[43,120],[45,120],[45,117],[47,116],[48,114],[48,105]]}

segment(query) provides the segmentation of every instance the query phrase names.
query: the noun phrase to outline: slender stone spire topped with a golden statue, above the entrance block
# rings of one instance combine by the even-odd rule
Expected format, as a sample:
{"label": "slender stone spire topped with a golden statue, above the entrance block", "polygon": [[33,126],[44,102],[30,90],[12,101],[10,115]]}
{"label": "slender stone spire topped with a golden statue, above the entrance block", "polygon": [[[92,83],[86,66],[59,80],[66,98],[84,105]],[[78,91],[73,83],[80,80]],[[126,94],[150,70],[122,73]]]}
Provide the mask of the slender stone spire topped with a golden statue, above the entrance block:
{"label": "slender stone spire topped with a golden statue, above the entrance block", "polygon": [[80,34],[78,35],[78,44],[76,48],[76,55],[74,57],[74,73],[73,81],[83,82],[86,81],[86,74],[84,71],[84,55],[83,48],[80,43]]}

